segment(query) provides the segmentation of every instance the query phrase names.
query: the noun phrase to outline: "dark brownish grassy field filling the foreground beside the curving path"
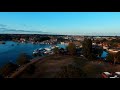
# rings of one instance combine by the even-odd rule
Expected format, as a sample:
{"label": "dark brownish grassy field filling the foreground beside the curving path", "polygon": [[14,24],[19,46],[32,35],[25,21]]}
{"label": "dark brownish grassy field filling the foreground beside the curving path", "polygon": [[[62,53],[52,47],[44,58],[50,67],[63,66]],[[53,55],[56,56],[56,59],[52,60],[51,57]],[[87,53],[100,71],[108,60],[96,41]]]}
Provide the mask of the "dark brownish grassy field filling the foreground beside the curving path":
{"label": "dark brownish grassy field filling the foreground beside the curving path", "polygon": [[42,62],[38,61],[32,66],[34,68],[24,70],[19,78],[101,78],[101,73],[104,71],[120,71],[120,65],[59,55],[46,57]]}

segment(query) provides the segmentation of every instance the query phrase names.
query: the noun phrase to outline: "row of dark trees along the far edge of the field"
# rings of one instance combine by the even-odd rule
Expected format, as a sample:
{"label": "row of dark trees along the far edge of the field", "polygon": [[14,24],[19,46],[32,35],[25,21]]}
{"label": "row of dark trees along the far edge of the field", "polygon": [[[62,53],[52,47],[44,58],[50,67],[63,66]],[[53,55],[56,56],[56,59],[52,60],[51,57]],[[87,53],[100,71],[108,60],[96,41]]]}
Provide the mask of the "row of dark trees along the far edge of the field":
{"label": "row of dark trees along the far edge of the field", "polygon": [[55,54],[69,54],[79,56],[82,54],[89,60],[97,59],[98,57],[101,56],[102,52],[103,52],[102,47],[93,48],[91,39],[87,38],[84,39],[82,43],[82,48],[77,48],[76,45],[73,42],[71,42],[66,47],[66,49],[63,48],[59,49],[57,47],[54,49]]}

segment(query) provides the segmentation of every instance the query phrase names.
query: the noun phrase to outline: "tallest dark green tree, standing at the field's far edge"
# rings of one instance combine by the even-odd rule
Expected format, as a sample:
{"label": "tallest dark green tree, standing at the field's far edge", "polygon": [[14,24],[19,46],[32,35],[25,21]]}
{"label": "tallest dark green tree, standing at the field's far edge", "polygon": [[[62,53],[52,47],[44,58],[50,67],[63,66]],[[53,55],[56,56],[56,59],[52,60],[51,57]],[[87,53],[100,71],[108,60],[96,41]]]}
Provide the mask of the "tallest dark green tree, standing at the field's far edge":
{"label": "tallest dark green tree, standing at the field's far edge", "polygon": [[82,52],[83,52],[83,55],[88,58],[88,59],[91,59],[92,57],[92,41],[91,39],[87,39],[85,38],[83,43],[82,43]]}

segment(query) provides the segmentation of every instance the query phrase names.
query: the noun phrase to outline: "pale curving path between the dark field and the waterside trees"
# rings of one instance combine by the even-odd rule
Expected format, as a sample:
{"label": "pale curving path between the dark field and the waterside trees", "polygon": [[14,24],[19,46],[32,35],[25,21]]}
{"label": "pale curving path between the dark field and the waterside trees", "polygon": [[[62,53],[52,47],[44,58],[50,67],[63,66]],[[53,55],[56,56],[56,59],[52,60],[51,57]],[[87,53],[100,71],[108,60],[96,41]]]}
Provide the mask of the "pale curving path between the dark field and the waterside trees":
{"label": "pale curving path between the dark field and the waterside trees", "polygon": [[37,61],[41,60],[45,58],[45,57],[37,57],[37,58],[34,58],[31,60],[30,63],[27,63],[25,65],[22,65],[20,66],[14,73],[11,74],[11,76],[9,77],[6,77],[6,78],[15,78],[17,77],[18,75],[20,75],[21,72],[23,72],[29,65],[33,64],[33,63],[36,63]]}

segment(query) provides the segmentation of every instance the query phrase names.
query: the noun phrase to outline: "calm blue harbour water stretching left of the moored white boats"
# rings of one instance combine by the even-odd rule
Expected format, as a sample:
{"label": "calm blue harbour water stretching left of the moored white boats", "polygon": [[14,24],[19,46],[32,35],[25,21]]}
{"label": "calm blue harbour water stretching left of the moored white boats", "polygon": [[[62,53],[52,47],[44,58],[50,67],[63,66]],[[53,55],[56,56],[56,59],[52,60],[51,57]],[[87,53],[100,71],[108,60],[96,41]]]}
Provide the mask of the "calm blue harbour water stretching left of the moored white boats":
{"label": "calm blue harbour water stretching left of the moored white boats", "polygon": [[[12,46],[12,44],[14,44],[14,46]],[[21,53],[27,53],[32,56],[33,50],[49,46],[50,45],[47,44],[17,43],[7,41],[6,44],[0,44],[0,67],[9,61],[16,62],[16,59]],[[58,44],[58,46],[65,48],[64,45]]]}

